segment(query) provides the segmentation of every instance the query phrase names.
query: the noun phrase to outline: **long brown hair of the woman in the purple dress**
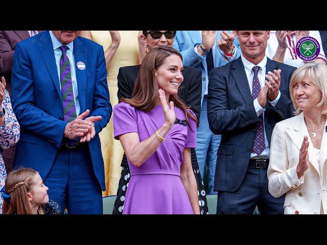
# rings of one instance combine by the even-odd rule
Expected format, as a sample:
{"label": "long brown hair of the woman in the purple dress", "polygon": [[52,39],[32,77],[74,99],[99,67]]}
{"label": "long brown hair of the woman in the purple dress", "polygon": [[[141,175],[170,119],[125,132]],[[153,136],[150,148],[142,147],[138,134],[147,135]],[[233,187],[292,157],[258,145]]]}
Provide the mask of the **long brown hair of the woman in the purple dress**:
{"label": "long brown hair of the woman in the purple dress", "polygon": [[[183,60],[182,55],[172,47],[159,46],[153,48],[144,58],[141,67],[139,68],[137,79],[131,99],[122,98],[120,102],[130,104],[132,107],[142,110],[144,112],[151,111],[159,102],[159,86],[155,79],[155,71],[171,56],[177,55]],[[188,109],[177,94],[169,96],[169,102],[174,102],[174,106],[180,108],[185,113],[185,118],[188,126],[190,126],[189,117],[197,122],[198,119]],[[193,130],[193,129],[192,129]]]}

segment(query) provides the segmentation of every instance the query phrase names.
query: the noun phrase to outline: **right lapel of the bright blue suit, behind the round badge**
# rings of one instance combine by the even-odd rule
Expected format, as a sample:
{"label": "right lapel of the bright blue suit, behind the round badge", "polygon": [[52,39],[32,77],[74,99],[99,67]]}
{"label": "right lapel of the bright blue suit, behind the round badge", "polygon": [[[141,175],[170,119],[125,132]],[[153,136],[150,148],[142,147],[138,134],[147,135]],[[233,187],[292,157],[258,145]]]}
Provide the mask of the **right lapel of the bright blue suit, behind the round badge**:
{"label": "right lapel of the bright blue suit, behind the round badge", "polygon": [[[80,102],[81,113],[85,109],[85,91],[86,91],[86,76],[87,76],[87,49],[84,42],[77,38],[74,40],[74,57],[75,57],[75,70],[76,70],[76,80],[78,87],[78,99]],[[85,69],[81,70],[77,67],[78,62],[83,62],[85,64]]]}

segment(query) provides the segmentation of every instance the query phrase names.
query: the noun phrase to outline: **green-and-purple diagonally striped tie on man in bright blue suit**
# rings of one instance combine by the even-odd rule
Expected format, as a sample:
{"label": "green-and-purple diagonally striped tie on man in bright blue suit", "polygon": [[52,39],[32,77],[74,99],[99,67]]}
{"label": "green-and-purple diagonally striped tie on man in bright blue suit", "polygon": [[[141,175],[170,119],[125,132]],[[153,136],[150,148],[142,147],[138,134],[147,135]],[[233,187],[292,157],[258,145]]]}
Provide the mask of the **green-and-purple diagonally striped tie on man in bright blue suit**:
{"label": "green-and-purple diagonally striped tie on man in bright blue suit", "polygon": [[67,48],[68,47],[65,45],[60,47],[62,55],[60,57],[59,66],[63,116],[65,121],[71,122],[76,118],[76,107],[71,76],[71,64],[66,55]]}

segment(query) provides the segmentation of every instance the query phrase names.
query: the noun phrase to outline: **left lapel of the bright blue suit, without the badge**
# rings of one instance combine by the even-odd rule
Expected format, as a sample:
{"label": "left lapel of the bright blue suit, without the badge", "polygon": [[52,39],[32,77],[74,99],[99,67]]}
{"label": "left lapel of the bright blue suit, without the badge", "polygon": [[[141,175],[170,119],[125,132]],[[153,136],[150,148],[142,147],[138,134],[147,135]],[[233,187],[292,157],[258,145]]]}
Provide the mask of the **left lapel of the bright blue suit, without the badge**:
{"label": "left lapel of the bright blue suit, without the badge", "polygon": [[53,46],[52,46],[52,41],[51,41],[49,31],[43,32],[41,34],[40,40],[38,42],[38,46],[40,48],[40,52],[41,52],[43,61],[45,63],[45,66],[48,69],[50,77],[57,89],[58,94],[59,94],[60,100],[62,101],[56,58],[55,58],[55,54],[53,51]]}

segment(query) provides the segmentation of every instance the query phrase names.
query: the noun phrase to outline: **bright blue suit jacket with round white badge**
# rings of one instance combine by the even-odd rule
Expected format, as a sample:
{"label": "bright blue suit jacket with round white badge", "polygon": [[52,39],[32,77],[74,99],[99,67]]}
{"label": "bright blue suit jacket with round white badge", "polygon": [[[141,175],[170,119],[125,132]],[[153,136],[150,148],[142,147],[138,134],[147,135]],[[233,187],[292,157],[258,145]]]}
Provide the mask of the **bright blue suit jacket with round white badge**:
{"label": "bright blue suit jacket with round white badge", "polygon": [[[74,40],[81,112],[102,116],[95,122],[96,137],[88,142],[95,175],[105,190],[104,165],[99,132],[107,125],[112,107],[109,101],[107,69],[103,47],[88,39]],[[76,64],[75,64],[76,65]],[[12,105],[20,124],[14,165],[32,167],[42,179],[48,175],[63,140],[61,90],[49,31],[17,43],[12,67]]]}

